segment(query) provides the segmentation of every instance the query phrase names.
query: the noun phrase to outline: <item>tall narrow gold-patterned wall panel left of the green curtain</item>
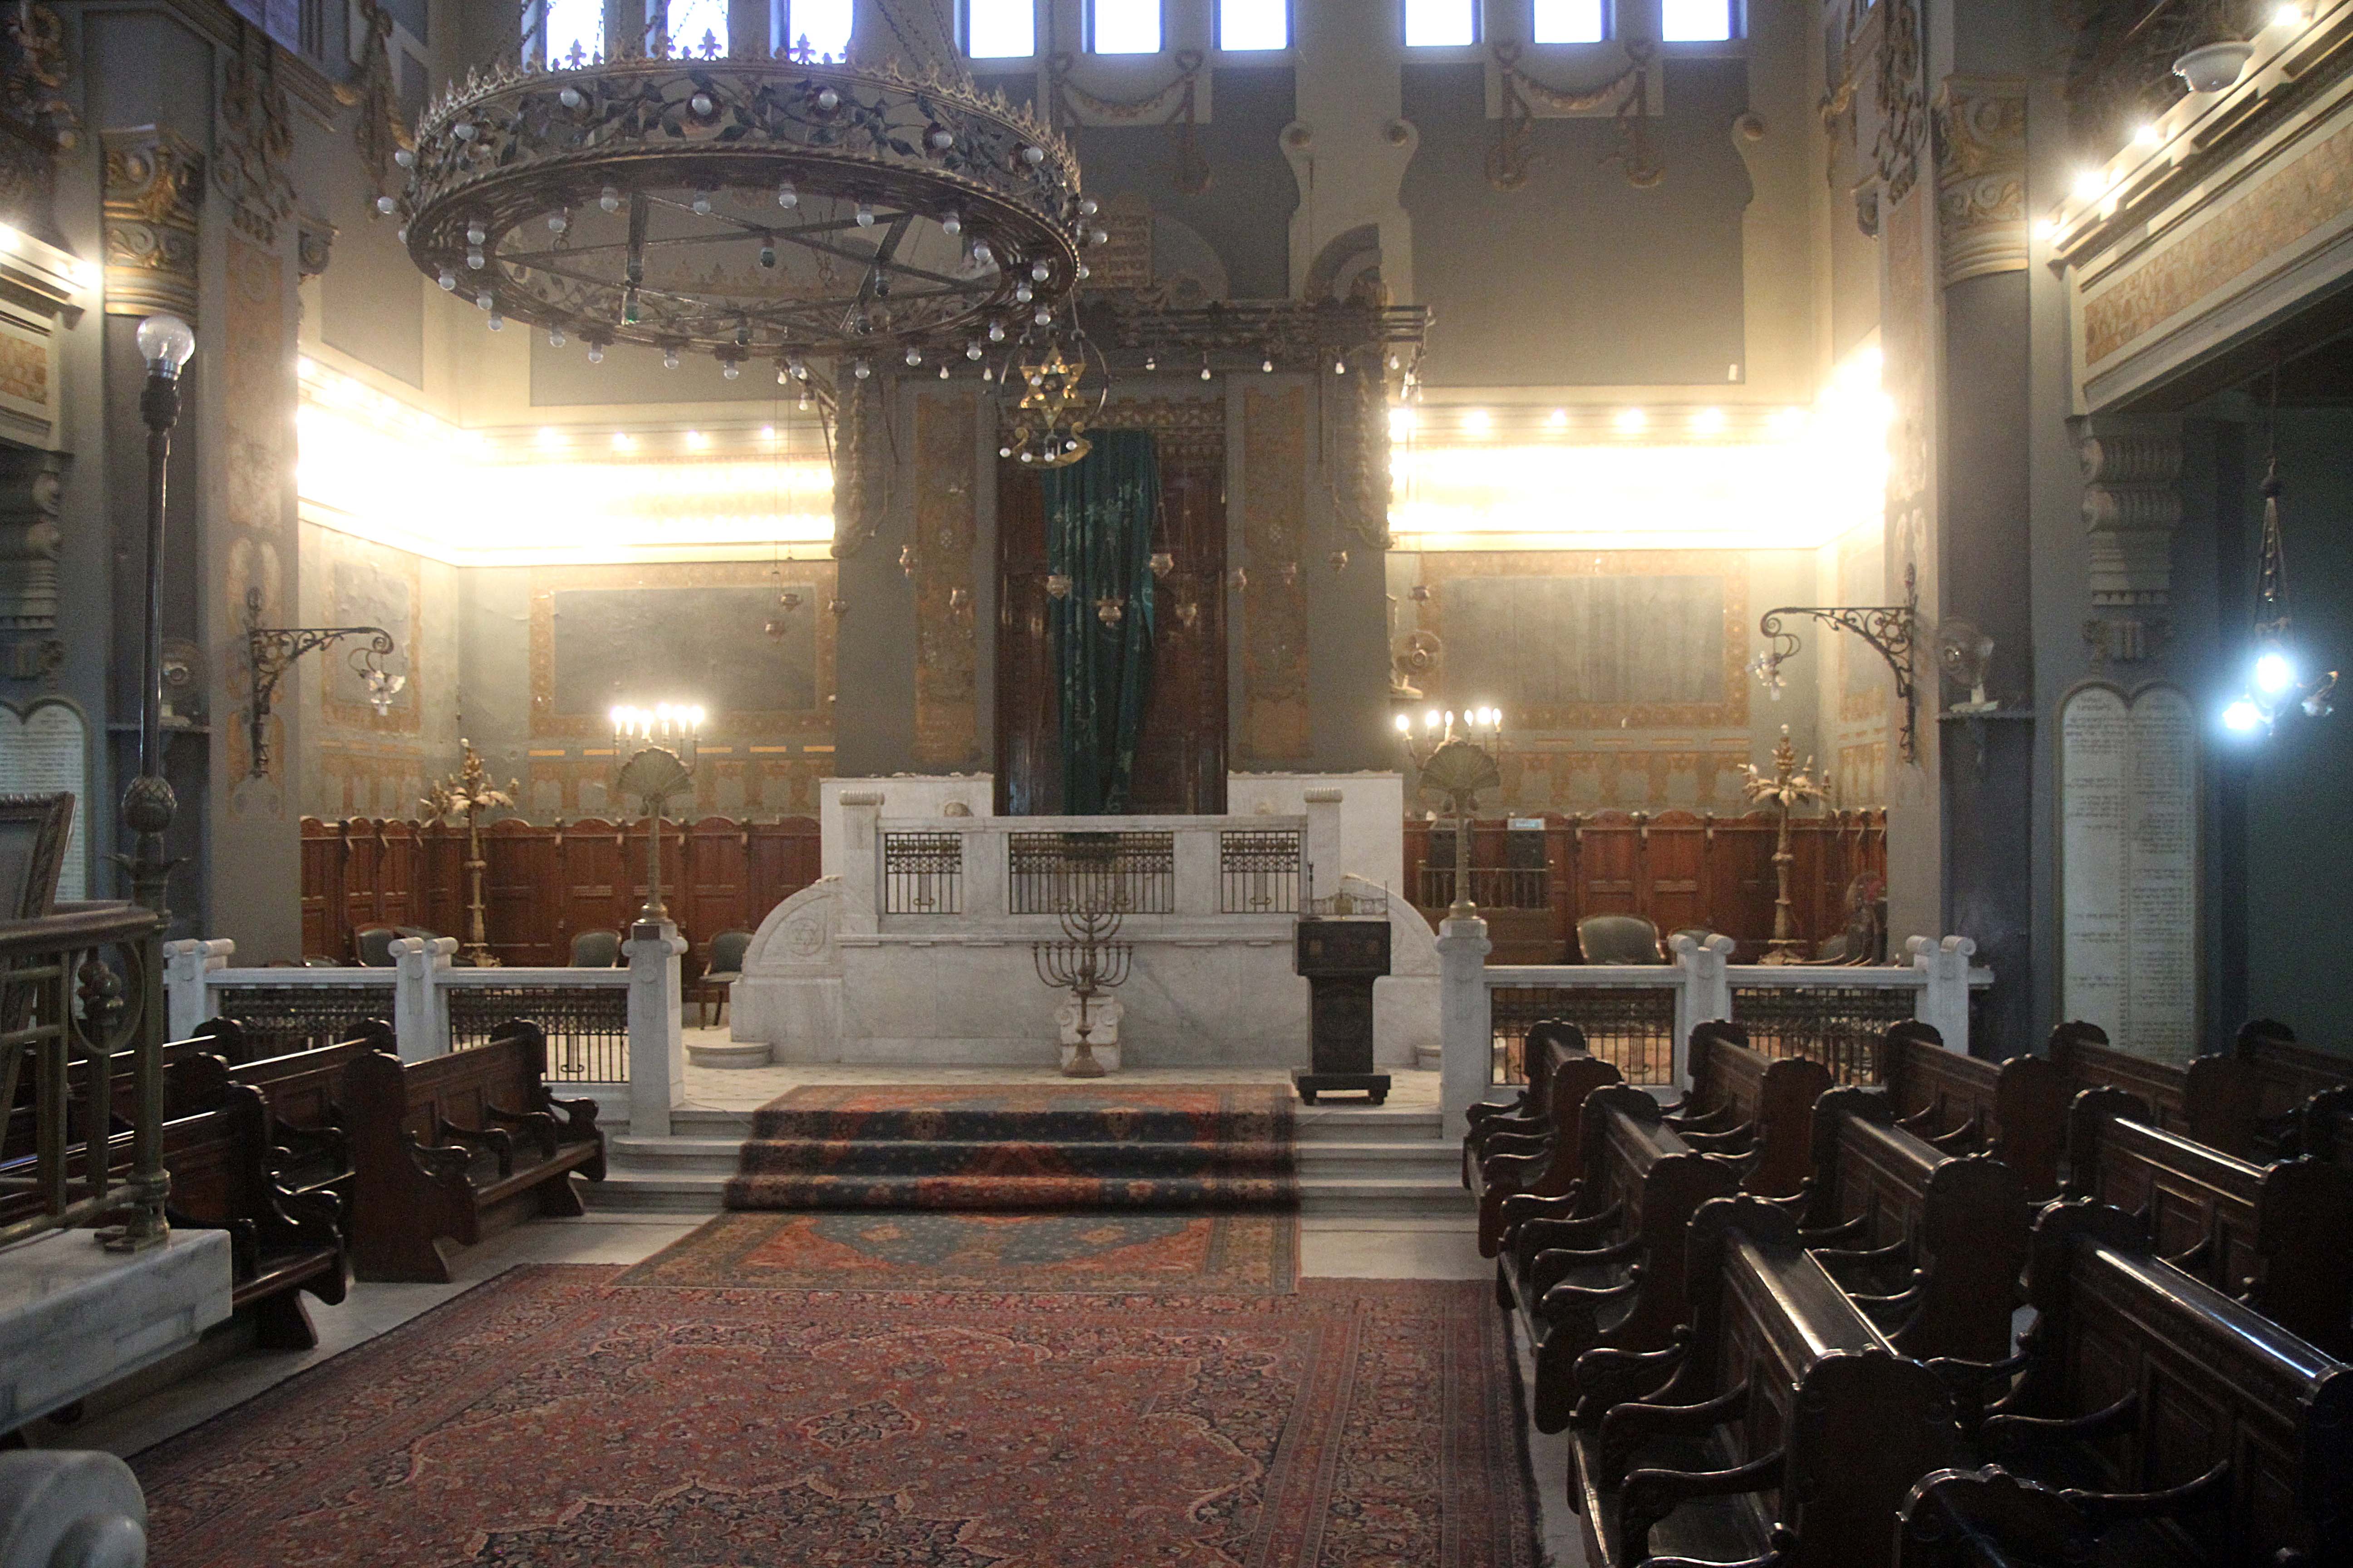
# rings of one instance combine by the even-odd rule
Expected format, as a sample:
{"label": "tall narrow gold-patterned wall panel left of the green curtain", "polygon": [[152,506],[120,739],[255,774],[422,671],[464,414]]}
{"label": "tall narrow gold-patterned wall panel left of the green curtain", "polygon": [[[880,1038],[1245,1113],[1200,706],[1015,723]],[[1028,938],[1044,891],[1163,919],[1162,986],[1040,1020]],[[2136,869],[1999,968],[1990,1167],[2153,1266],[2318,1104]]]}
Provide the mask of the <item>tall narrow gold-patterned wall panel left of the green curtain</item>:
{"label": "tall narrow gold-patterned wall panel left of the green curtain", "polygon": [[915,393],[915,762],[936,769],[981,759],[974,440],[965,388]]}

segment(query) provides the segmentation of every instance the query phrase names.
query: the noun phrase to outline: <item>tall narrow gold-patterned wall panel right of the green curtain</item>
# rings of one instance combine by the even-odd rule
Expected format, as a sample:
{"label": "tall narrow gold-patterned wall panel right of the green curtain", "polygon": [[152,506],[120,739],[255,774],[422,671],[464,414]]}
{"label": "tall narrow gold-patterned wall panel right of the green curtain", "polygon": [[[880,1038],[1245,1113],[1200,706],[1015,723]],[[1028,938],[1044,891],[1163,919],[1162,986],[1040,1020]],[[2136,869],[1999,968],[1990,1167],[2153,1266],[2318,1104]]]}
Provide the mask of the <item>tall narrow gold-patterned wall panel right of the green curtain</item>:
{"label": "tall narrow gold-patterned wall panel right of the green curtain", "polygon": [[1242,393],[1242,748],[1294,762],[1308,724],[1306,388]]}

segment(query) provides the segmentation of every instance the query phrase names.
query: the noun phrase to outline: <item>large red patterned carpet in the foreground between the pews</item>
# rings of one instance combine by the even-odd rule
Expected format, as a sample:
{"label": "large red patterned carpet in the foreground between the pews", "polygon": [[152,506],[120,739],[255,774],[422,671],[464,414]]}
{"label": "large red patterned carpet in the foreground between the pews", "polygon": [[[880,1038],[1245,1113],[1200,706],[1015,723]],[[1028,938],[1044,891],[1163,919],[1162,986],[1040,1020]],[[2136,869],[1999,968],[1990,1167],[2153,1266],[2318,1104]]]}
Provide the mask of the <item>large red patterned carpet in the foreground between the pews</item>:
{"label": "large red patterned carpet in the foreground between the pews", "polygon": [[522,1267],[151,1448],[169,1568],[1532,1568],[1473,1281],[616,1291]]}

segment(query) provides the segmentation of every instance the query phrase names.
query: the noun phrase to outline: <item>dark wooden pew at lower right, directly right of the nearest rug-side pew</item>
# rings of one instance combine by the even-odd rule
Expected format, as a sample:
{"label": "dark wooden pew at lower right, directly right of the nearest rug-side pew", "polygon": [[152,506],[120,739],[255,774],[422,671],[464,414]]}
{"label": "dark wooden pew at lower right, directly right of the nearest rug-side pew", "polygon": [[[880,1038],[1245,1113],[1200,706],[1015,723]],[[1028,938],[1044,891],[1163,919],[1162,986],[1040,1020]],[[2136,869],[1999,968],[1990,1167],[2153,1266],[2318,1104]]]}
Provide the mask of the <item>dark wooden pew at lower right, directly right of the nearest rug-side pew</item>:
{"label": "dark wooden pew at lower right, directly right of the nearest rug-side pew", "polygon": [[2097,1490],[2167,1490],[2228,1460],[2221,1502],[2179,1521],[2200,1561],[2344,1561],[2353,1368],[2148,1255],[2139,1220],[2111,1204],[2042,1211],[2026,1298],[2035,1354],[2002,1413],[2082,1418],[2132,1396],[2137,1420],[2101,1443]]}

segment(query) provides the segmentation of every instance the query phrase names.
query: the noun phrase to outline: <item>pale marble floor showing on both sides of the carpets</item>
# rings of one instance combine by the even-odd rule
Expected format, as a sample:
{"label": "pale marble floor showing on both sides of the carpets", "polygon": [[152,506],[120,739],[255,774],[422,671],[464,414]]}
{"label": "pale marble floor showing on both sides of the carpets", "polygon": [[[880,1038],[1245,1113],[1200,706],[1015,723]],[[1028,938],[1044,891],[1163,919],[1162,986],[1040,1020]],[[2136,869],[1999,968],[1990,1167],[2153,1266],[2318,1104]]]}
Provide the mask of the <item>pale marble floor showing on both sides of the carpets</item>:
{"label": "pale marble floor showing on both sides of the carpets", "polygon": [[[40,1448],[104,1448],[132,1455],[261,1394],[306,1366],[365,1345],[508,1267],[520,1262],[638,1262],[678,1241],[699,1222],[696,1215],[633,1213],[532,1220],[487,1239],[482,1246],[466,1248],[452,1265],[456,1279],[447,1286],[353,1284],[351,1295],[339,1307],[308,1302],[311,1321],[318,1324],[318,1349],[245,1349],[139,1399],[94,1410],[73,1427],[40,1422],[28,1436]],[[1489,1279],[1494,1265],[1478,1255],[1468,1215],[1461,1220],[1334,1215],[1299,1222],[1299,1272],[1322,1279]],[[1520,1347],[1520,1366],[1525,1380],[1525,1345]],[[1551,1568],[1584,1568],[1577,1519],[1567,1512],[1562,1495],[1565,1446],[1560,1439],[1537,1432],[1529,1434],[1529,1441],[1537,1488],[1544,1495],[1546,1563]]]}

